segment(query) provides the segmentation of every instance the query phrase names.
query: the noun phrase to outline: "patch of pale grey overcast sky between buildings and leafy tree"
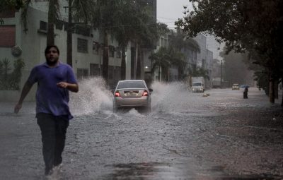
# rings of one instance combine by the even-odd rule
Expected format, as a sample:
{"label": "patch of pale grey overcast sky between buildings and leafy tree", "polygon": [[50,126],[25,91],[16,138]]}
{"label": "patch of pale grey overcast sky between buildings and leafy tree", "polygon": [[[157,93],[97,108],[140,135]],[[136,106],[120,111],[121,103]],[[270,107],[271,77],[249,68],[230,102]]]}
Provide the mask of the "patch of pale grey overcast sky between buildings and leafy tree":
{"label": "patch of pale grey overcast sky between buildings and leafy tree", "polygon": [[189,0],[157,0],[157,20],[166,23],[168,28],[174,28],[175,20],[183,18],[184,8]]}

